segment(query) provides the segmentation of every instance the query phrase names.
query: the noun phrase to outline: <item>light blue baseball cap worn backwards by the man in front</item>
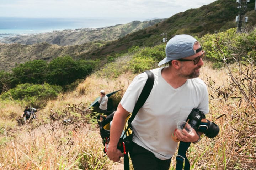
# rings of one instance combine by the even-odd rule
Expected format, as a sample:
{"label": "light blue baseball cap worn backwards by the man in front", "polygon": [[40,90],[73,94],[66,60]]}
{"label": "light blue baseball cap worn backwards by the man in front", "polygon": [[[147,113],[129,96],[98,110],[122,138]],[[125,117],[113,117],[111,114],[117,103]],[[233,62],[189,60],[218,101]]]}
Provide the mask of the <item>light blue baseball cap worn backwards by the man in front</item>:
{"label": "light blue baseball cap worn backwards by the man in front", "polygon": [[202,47],[200,46],[199,49],[194,50],[195,42],[197,40],[190,35],[175,35],[167,42],[165,47],[166,57],[158,63],[158,66],[171,60],[178,60],[198,53],[202,50]]}

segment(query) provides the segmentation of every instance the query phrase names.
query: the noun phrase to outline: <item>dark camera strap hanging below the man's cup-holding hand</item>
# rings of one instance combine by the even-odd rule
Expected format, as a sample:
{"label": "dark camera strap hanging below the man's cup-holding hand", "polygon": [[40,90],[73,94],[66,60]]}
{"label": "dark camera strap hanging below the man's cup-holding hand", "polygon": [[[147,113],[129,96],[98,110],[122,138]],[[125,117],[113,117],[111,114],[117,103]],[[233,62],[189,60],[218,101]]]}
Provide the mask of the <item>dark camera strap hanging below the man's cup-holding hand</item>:
{"label": "dark camera strap hanging below the man's cup-holding hand", "polygon": [[190,147],[190,143],[191,142],[180,141],[180,145],[178,148],[178,154],[176,156],[176,169],[175,170],[183,170],[184,162],[185,162],[184,170],[190,169],[190,163],[186,156],[186,152],[187,152],[187,149]]}

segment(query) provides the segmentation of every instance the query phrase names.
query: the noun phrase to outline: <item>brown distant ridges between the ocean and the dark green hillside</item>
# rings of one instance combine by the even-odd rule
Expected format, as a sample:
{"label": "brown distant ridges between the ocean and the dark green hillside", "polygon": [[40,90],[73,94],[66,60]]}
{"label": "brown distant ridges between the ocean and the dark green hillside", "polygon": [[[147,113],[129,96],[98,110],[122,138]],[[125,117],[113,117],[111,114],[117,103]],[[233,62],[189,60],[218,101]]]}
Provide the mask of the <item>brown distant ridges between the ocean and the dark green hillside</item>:
{"label": "brown distant ridges between the ocean and the dark green hillside", "polygon": [[[133,21],[103,28],[80,28],[6,38],[0,42],[0,70],[10,70],[15,64],[30,60],[50,61],[58,56],[81,58],[91,49],[136,32],[164,19]],[[7,43],[8,42],[8,43]],[[97,57],[96,57],[97,58]]]}

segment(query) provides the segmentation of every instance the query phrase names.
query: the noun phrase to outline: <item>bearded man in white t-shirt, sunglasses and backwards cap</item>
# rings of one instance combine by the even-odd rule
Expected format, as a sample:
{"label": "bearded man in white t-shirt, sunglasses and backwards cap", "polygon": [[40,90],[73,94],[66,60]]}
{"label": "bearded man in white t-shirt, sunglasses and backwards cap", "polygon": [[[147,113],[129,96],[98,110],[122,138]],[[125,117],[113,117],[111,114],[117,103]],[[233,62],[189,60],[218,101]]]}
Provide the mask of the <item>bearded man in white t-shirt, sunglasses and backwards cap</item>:
{"label": "bearded man in white t-shirt, sunglasses and backwards cap", "polygon": [[[204,64],[205,52],[199,42],[190,35],[176,35],[166,45],[166,57],[154,73],[154,85],[150,95],[132,121],[133,148],[130,151],[134,170],[168,170],[177,143],[171,136],[180,120],[186,120],[192,109],[204,114],[209,112],[208,92],[204,82],[197,78]],[[146,73],[137,75],[126,90],[111,125],[107,155],[119,161],[123,154],[117,143],[123,131],[125,118],[133,111],[135,102],[147,80]],[[200,135],[175,131],[183,142],[197,142]]]}

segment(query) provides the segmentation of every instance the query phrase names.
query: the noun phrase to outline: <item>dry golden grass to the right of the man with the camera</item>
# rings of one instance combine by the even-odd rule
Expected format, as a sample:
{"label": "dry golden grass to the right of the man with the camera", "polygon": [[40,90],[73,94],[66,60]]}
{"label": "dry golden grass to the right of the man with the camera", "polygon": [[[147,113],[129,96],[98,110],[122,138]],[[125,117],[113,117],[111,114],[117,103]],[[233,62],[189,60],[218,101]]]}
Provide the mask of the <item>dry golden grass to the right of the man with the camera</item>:
{"label": "dry golden grass to the right of the man with the camera", "polygon": [[[239,78],[237,66],[232,65],[229,68]],[[255,170],[256,113],[237,87],[231,89],[230,84],[233,81],[226,73],[226,69],[211,70],[209,64],[202,69],[201,78],[208,85],[210,99],[208,119],[220,126],[220,132],[216,138],[204,137],[199,145],[192,146],[190,161],[195,163],[192,165],[195,169]],[[255,75],[251,75],[253,74]],[[244,85],[246,87],[248,82]],[[255,88],[255,83],[252,86]],[[256,106],[253,94],[247,91],[247,95]]]}

